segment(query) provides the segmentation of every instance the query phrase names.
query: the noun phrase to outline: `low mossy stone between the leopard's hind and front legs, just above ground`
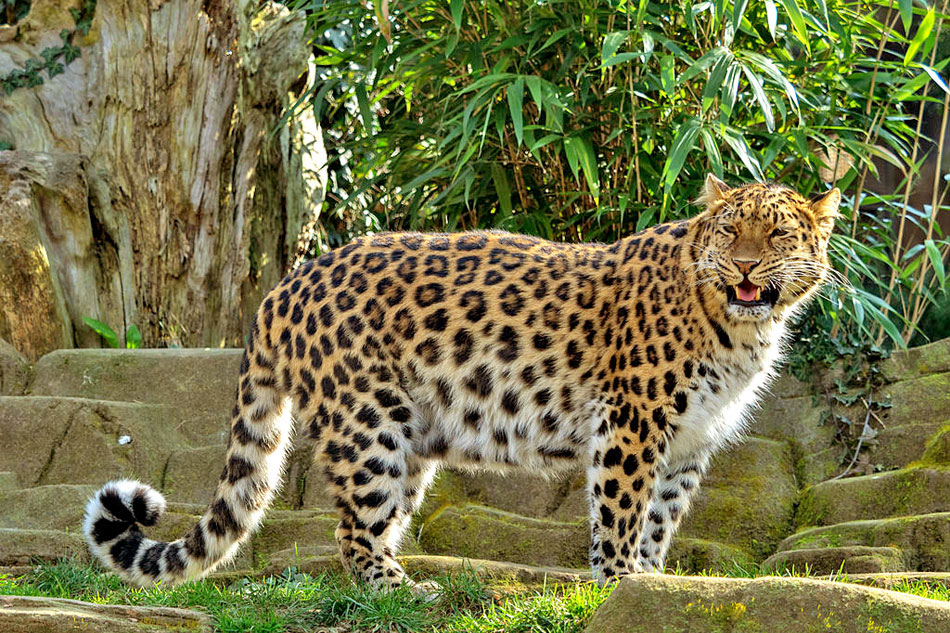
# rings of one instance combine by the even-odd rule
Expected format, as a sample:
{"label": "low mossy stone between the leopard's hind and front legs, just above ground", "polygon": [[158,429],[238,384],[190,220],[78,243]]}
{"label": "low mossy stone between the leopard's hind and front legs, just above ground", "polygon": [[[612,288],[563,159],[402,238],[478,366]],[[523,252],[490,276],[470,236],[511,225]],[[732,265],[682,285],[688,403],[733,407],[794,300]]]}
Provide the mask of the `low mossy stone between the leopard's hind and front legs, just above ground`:
{"label": "low mossy stone between the leopard's hind and front legs, just above ground", "polygon": [[426,554],[583,569],[590,528],[584,521],[531,519],[492,508],[449,507],[421,529]]}

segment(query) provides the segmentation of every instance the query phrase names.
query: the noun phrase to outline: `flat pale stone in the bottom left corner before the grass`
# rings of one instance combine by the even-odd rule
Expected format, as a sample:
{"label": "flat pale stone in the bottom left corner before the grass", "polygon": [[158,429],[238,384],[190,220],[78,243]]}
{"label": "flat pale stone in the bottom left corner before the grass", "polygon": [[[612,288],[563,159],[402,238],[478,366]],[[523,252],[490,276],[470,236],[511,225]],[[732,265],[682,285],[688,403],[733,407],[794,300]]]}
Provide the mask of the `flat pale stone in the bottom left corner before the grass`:
{"label": "flat pale stone in the bottom left corner before the grass", "polygon": [[0,596],[0,630],[5,633],[211,633],[211,618],[171,607],[106,605],[32,596]]}

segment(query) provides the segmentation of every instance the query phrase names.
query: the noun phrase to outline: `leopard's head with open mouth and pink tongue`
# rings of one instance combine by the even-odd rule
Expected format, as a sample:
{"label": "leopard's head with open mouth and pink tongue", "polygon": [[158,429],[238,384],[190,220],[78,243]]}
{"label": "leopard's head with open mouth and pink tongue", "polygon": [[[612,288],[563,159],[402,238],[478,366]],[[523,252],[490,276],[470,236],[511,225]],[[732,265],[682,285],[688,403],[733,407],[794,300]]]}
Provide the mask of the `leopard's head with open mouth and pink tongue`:
{"label": "leopard's head with open mouth and pink tongue", "polygon": [[833,273],[828,240],[841,192],[811,201],[776,184],[730,188],[710,174],[698,203],[696,283],[736,321],[782,317]]}

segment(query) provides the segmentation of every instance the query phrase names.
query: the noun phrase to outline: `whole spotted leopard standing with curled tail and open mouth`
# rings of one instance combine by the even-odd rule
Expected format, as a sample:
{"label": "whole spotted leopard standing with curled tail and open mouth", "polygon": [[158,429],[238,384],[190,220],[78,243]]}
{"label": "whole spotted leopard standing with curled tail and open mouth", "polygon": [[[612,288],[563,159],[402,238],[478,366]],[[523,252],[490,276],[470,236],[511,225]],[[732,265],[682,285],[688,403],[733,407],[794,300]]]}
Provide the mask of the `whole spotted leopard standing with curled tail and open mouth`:
{"label": "whole spotted leopard standing with curled tail and open mouth", "polygon": [[710,176],[699,215],[614,244],[392,233],[328,252],[257,312],[197,524],[147,538],[163,497],[116,481],[89,501],[89,545],[137,585],[207,574],[261,521],[296,430],[336,499],[343,563],[372,585],[411,582],[397,548],[443,466],[580,462],[595,578],[662,571],[710,456],[829,273],[839,202]]}

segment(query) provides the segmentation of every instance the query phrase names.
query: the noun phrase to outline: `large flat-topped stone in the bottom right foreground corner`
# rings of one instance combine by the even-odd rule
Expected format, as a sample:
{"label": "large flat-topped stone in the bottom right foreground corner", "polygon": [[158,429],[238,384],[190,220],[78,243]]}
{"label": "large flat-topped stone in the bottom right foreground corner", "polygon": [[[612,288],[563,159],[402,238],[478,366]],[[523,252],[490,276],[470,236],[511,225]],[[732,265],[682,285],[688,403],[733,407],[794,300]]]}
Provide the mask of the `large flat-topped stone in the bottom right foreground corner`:
{"label": "large flat-topped stone in the bottom right foreground corner", "polygon": [[950,604],[808,578],[640,575],[620,581],[586,633],[945,633]]}

